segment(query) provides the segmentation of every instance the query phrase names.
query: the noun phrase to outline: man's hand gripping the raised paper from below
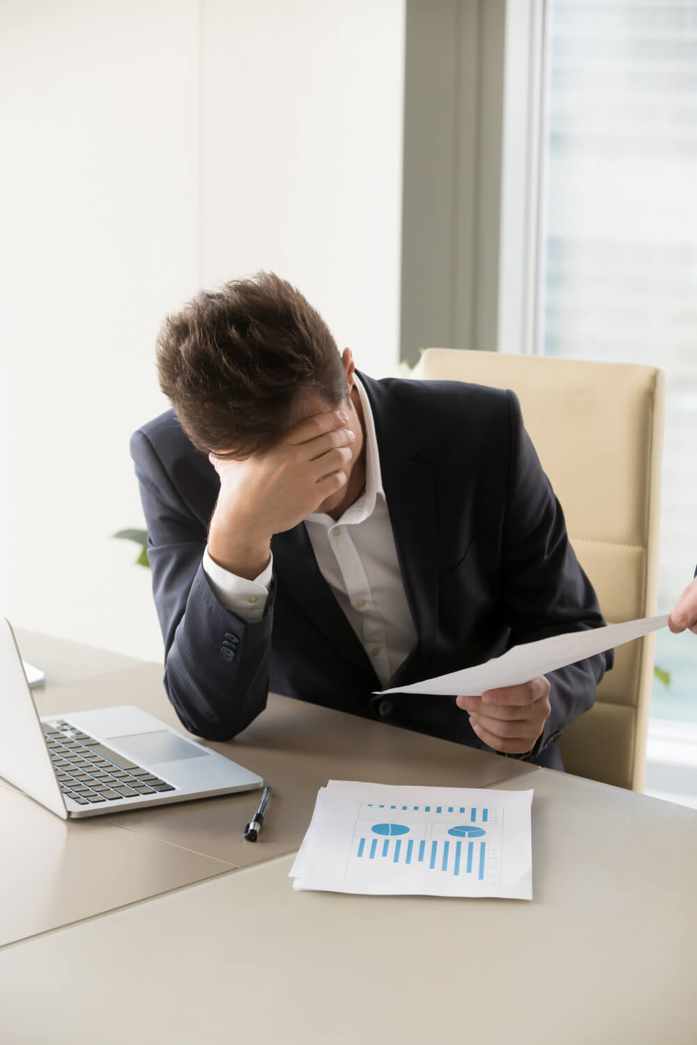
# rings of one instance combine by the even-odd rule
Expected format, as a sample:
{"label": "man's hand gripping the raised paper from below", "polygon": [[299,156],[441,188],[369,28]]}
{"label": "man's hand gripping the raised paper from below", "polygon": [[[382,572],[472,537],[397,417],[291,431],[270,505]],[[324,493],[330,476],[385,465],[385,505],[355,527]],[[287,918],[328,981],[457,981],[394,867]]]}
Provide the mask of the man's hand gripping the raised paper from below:
{"label": "man's hand gripping the raised paper from below", "polygon": [[538,675],[521,686],[487,690],[481,697],[460,696],[477,736],[494,751],[525,754],[541,736],[550,717],[550,682]]}

